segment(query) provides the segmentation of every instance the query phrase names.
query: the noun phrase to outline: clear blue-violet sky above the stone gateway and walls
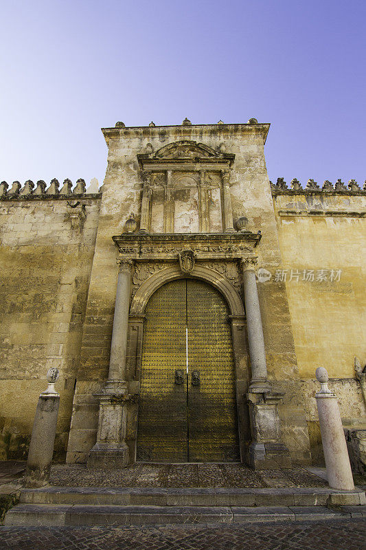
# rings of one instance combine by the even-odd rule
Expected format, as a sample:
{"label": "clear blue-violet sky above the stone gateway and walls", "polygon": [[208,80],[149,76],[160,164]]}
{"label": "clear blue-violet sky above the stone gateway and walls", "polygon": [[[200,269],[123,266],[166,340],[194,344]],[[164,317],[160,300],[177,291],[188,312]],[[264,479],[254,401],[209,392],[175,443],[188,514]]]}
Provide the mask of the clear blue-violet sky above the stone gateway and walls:
{"label": "clear blue-violet sky above the stone gateway and walls", "polygon": [[102,126],[271,122],[270,179],[363,185],[365,0],[3,0],[0,181],[87,184]]}

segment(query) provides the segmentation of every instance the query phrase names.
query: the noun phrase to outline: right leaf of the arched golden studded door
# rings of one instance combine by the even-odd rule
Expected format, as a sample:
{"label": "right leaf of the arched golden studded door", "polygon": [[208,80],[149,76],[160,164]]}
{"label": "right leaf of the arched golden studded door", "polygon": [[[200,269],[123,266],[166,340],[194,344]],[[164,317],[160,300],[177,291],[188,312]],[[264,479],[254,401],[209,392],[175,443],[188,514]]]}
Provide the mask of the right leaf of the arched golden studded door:
{"label": "right leaf of the arched golden studded door", "polygon": [[214,287],[187,280],[191,462],[240,460],[228,316],[225,300]]}

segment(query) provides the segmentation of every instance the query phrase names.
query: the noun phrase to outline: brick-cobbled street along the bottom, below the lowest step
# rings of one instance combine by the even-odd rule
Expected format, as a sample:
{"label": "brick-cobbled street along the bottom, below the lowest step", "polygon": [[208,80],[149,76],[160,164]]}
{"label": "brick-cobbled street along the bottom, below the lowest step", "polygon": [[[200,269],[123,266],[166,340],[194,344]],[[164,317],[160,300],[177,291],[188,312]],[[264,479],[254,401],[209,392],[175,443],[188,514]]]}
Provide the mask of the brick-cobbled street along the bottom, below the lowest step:
{"label": "brick-cobbled street along the bottom, below the lowest step", "polygon": [[365,520],[141,527],[1,527],[1,550],[365,550]]}

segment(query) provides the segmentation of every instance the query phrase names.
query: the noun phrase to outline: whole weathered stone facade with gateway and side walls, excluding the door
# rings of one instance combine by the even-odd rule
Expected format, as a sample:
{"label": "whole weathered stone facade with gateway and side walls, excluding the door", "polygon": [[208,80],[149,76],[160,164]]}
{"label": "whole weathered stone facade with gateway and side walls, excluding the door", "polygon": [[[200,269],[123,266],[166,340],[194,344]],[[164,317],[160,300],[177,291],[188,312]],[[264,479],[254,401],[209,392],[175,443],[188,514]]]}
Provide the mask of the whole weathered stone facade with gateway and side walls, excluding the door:
{"label": "whole weathered stone facade with gateway and side walls, excluding the door", "polygon": [[117,124],[103,129],[102,192],[86,194],[82,180],[73,192],[69,180],[60,191],[56,180],[47,190],[0,184],[3,457],[25,456],[57,366],[58,456],[135,460],[144,309],[183,276],[229,305],[242,461],[322,461],[317,366],[347,423],[365,415],[354,372],[354,355],[366,362],[365,192],[356,182],[273,186],[268,128]]}

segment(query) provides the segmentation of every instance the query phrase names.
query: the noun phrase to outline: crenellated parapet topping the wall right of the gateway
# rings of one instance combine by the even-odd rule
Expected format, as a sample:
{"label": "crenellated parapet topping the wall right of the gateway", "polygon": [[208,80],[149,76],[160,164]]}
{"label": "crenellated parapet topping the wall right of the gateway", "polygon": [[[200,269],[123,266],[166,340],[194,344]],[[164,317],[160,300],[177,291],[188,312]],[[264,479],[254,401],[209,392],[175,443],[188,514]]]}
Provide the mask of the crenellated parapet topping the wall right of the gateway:
{"label": "crenellated parapet topping the wall right of the gateway", "polygon": [[341,179],[337,179],[335,184],[332,181],[325,179],[323,186],[320,186],[314,179],[308,179],[306,186],[301,186],[298,179],[294,178],[290,181],[288,187],[283,177],[278,177],[277,182],[269,182],[271,185],[272,195],[366,195],[366,180],[363,188],[358,185],[356,179],[350,179],[346,185]]}

